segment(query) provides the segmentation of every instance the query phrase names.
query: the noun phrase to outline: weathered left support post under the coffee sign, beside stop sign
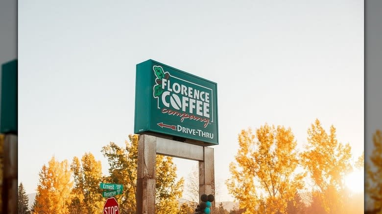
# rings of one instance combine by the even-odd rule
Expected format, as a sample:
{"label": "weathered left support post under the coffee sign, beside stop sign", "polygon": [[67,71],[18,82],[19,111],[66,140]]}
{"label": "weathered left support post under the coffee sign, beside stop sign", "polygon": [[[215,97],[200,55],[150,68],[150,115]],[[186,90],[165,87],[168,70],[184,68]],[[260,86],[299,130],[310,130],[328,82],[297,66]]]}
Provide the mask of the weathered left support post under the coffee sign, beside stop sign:
{"label": "weathered left support post under the coffee sign, beside stop sign", "polygon": [[155,214],[156,137],[140,135],[138,140],[137,214]]}

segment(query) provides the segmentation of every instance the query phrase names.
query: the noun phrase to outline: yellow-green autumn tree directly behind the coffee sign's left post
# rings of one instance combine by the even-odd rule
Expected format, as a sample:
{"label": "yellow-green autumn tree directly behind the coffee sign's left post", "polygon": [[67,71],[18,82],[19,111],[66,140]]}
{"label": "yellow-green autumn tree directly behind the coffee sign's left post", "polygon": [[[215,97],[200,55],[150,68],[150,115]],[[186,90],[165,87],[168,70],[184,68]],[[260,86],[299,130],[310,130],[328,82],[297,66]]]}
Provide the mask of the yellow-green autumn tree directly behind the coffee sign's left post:
{"label": "yellow-green autumn tree directly behind the coffee sign's left post", "polygon": [[[121,201],[120,210],[126,214],[135,214],[138,135],[129,135],[129,140],[130,142],[125,142],[125,148],[111,142],[102,148],[102,153],[110,165],[110,176],[106,179],[112,183],[123,184],[123,194],[117,195]],[[172,157],[156,155],[156,214],[176,213],[177,199],[182,196],[183,183],[183,178],[176,181],[176,166]]]}

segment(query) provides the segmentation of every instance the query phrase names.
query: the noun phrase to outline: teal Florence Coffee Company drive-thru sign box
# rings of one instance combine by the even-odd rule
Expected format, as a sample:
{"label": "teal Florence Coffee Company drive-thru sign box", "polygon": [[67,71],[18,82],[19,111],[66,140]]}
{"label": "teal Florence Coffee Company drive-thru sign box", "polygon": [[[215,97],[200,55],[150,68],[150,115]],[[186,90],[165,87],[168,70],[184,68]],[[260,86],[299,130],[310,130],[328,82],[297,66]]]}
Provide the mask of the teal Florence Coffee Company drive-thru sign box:
{"label": "teal Florence Coffee Company drive-thru sign box", "polygon": [[217,145],[216,83],[153,60],[137,64],[134,133]]}

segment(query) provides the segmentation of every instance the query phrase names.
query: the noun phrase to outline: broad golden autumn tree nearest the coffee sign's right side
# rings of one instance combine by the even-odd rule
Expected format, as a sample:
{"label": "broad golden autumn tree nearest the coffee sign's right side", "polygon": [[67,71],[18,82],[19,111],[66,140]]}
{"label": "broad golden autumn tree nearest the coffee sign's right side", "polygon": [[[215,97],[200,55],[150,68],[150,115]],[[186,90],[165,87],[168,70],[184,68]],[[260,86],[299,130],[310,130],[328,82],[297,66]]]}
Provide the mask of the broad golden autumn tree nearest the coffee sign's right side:
{"label": "broad golden autumn tree nearest the coffee sign's right side", "polygon": [[242,130],[232,177],[226,181],[229,193],[239,200],[245,214],[286,213],[287,202],[303,188],[296,141],[290,128],[264,126]]}

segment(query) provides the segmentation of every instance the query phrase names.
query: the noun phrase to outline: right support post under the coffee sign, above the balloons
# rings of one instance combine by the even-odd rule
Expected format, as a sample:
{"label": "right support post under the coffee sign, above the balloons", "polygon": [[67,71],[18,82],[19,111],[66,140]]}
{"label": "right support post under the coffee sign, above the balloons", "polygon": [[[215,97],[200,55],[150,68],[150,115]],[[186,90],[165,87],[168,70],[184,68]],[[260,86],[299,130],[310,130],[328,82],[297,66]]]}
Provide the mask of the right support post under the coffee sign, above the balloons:
{"label": "right support post under the coffee sign, above the balloons", "polygon": [[[214,166],[214,149],[204,147],[204,161],[199,161],[199,200],[202,194],[215,195]],[[215,208],[215,201],[211,208]]]}

